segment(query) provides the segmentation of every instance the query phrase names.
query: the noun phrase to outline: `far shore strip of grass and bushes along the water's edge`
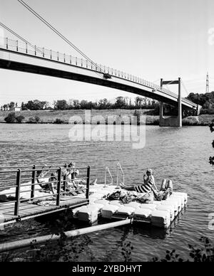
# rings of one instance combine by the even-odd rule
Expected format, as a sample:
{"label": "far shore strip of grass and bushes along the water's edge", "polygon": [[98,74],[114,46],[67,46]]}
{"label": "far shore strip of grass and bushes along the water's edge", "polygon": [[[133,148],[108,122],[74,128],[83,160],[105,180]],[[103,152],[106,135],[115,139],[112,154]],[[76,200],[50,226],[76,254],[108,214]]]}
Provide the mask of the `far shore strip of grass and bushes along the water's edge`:
{"label": "far shore strip of grass and bushes along the water's edge", "polygon": [[[146,125],[159,125],[159,116],[151,115],[153,110],[26,110],[15,112],[16,116],[23,116],[21,124],[129,124],[131,117],[139,118],[145,116]],[[0,123],[6,124],[4,118],[11,111],[0,112]],[[89,117],[88,117],[89,114]],[[169,117],[169,116],[165,116]],[[124,119],[125,118],[125,119]],[[71,121],[72,120],[72,121]],[[124,122],[124,123],[123,123]],[[144,121],[145,122],[145,121]],[[185,117],[183,126],[208,126],[214,122],[214,115],[199,115],[195,117]],[[14,122],[13,124],[20,124]],[[133,124],[136,124],[134,122]],[[139,125],[139,124],[138,124]]]}

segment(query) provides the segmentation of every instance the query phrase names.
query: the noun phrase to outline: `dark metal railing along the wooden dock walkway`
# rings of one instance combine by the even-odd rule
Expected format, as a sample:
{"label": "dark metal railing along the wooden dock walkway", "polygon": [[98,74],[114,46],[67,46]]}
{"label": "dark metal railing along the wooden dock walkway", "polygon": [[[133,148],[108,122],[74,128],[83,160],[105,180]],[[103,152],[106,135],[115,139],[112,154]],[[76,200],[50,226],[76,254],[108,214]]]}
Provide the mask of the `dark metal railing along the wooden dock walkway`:
{"label": "dark metal railing along the wooden dock walkway", "polygon": [[[16,169],[15,169],[16,168]],[[29,169],[31,168],[31,169]],[[10,170],[11,169],[11,170]],[[12,170],[13,169],[13,170]],[[80,189],[66,189],[66,184],[68,181],[73,181],[73,179],[67,179],[67,174],[63,175],[63,170],[86,170],[85,177],[75,178],[75,181],[83,181],[84,185]],[[47,176],[40,177],[38,175],[38,171],[47,172]],[[48,176],[51,172],[56,172],[55,181],[50,181],[51,176]],[[39,183],[39,179],[48,179],[48,181],[44,181]],[[14,184],[15,183],[15,184]],[[44,191],[42,186],[54,184],[56,193],[47,193],[45,196],[35,196],[36,191]],[[0,167],[0,208],[1,206],[5,206],[7,204],[14,203],[14,216],[19,216],[19,206],[22,202],[30,202],[30,201],[39,201],[46,198],[52,198],[53,201],[56,200],[56,206],[61,206],[61,196],[73,196],[72,191],[85,191],[86,199],[89,198],[89,185],[90,185],[90,166],[80,166],[75,168],[68,168],[64,166],[60,166],[56,168],[53,166],[52,168],[44,168],[42,165],[34,165],[34,166],[21,166],[19,169],[13,166]],[[29,189],[24,189],[21,191],[21,188],[28,187]],[[39,188],[36,186],[40,186]],[[13,191],[6,191],[2,193],[4,190],[14,189]],[[69,191],[67,191],[69,190]],[[72,191],[71,191],[72,190]],[[21,193],[29,193],[30,196],[25,196],[25,198],[21,198]],[[45,192],[45,191],[44,191]],[[9,198],[8,198],[9,196]]]}

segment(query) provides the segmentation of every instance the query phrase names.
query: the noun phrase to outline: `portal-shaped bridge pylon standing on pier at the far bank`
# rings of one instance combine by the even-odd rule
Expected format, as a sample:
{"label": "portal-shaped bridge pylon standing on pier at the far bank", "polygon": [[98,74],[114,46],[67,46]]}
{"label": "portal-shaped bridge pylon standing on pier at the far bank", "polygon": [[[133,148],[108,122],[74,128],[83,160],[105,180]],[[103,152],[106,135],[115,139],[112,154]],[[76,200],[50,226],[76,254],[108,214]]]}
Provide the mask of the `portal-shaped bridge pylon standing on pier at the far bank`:
{"label": "portal-shaped bridge pylon standing on pier at the far bank", "polygon": [[165,117],[163,115],[163,102],[160,102],[160,127],[182,127],[182,98],[181,98],[181,81],[178,80],[163,80],[161,79],[161,87],[163,85],[178,85],[178,116]]}

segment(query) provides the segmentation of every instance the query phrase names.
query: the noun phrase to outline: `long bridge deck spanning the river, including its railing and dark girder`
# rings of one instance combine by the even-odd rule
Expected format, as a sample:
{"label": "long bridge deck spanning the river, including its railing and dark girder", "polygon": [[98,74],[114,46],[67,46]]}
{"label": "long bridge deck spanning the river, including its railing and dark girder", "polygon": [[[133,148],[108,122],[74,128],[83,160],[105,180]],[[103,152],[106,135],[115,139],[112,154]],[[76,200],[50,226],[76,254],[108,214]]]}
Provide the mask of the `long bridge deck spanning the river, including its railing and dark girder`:
{"label": "long bridge deck spanning the river, including its railing and dark girder", "polygon": [[[172,91],[121,70],[91,63],[90,60],[31,46],[9,38],[0,38],[0,50],[0,68],[6,70],[93,83],[151,97],[170,105],[178,105],[178,95]],[[110,78],[106,79],[106,74]],[[198,108],[198,105],[185,98],[182,98],[182,105],[195,110]]]}

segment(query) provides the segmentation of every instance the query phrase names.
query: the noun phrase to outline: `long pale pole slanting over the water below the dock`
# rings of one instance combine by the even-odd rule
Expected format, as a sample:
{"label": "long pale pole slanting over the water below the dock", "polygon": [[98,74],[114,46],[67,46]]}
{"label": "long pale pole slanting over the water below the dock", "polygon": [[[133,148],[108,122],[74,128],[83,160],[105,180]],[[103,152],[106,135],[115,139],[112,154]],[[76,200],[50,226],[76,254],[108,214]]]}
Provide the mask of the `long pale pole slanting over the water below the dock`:
{"label": "long pale pole slanting over the water below the dock", "polygon": [[[130,218],[130,219],[126,219],[123,221],[116,221],[113,223],[106,223],[106,224],[95,225],[95,226],[91,226],[91,227],[87,227],[87,228],[71,230],[71,231],[65,232],[65,235],[67,238],[71,238],[71,237],[76,237],[78,235],[93,233],[96,231],[114,228],[114,227],[131,224],[131,223],[132,223],[132,219]],[[36,238],[29,238],[29,239],[25,239],[25,240],[16,240],[11,243],[2,243],[2,244],[0,244],[0,253],[6,252],[9,250],[16,250],[19,248],[29,247],[33,243],[35,243],[35,240],[36,240],[36,245],[39,245],[39,244],[44,244],[49,240],[54,241],[54,240],[58,240],[58,239],[60,239],[60,235],[44,235],[44,236],[40,236],[40,237],[36,237]]]}

